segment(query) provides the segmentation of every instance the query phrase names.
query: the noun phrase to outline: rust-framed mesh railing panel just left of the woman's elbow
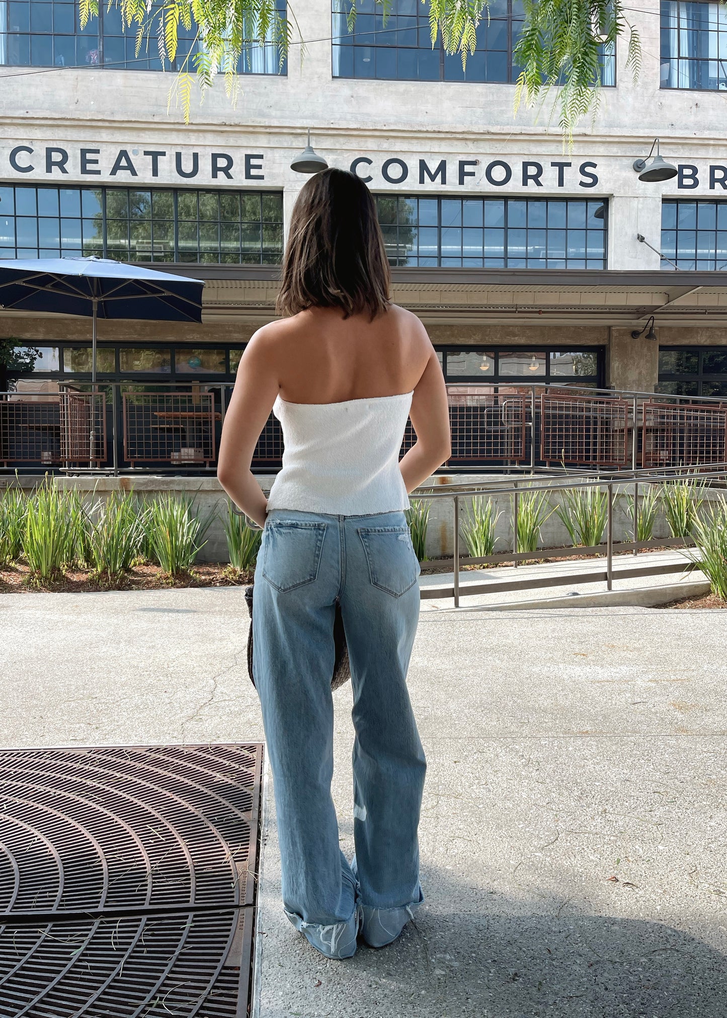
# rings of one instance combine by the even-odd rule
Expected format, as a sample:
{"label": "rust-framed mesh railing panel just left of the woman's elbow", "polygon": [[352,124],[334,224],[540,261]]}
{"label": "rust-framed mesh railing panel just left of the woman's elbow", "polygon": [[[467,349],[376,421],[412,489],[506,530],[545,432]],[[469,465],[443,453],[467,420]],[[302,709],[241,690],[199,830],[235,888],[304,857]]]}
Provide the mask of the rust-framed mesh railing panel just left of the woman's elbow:
{"label": "rust-framed mesh railing panel just left of the woman's elbow", "polygon": [[123,456],[136,463],[210,466],[216,459],[212,392],[124,392]]}

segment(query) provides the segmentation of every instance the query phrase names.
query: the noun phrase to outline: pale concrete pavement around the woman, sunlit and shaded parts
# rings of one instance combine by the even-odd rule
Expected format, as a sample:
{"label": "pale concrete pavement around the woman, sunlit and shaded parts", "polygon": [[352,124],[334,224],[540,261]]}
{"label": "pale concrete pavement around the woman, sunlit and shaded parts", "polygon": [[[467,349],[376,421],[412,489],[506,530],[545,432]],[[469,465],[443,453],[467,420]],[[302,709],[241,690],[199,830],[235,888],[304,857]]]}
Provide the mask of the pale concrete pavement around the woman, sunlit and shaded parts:
{"label": "pale concrete pavement around the woman, sunlit and shaded parts", "polygon": [[[262,738],[239,589],[4,596],[0,621],[3,745]],[[260,1018],[721,1016],[726,637],[719,611],[423,613],[427,902],[392,947],[326,961],[282,914],[270,809]]]}

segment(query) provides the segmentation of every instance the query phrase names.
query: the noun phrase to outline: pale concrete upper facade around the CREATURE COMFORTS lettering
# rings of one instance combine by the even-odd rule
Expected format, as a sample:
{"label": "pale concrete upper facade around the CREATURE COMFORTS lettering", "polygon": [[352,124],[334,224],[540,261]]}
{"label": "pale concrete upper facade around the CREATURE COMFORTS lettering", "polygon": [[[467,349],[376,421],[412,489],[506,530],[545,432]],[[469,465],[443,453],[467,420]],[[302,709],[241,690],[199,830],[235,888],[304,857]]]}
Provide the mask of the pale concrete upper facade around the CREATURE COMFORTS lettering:
{"label": "pale concrete upper facade around the CREATURE COMFORTS lettering", "polygon": [[[656,269],[658,256],[636,240],[642,233],[655,246],[661,230],[661,197],[665,194],[714,196],[709,165],[724,161],[725,102],[723,93],[660,91],[659,2],[645,0],[629,13],[641,38],[642,69],[638,82],[626,69],[626,41],[617,47],[617,88],[604,89],[599,111],[576,128],[572,152],[563,154],[558,116],[550,110],[513,112],[514,84],[445,81],[384,81],[334,78],[331,73],[330,0],[305,0],[294,5],[302,38],[301,58],[294,27],[286,76],[247,75],[232,106],[218,79],[204,105],[192,98],[191,123],[181,112],[168,110],[171,73],[94,68],[52,68],[43,74],[8,74],[3,78],[0,124],[0,179],[31,183],[116,183],[144,186],[181,184],[216,187],[269,187],[284,192],[285,215],[304,177],[289,168],[310,127],[313,143],[331,165],[348,167],[359,155],[372,159],[371,186],[406,193],[547,194],[611,197],[609,265],[614,269]],[[554,98],[554,97],[553,97]],[[552,101],[548,99],[547,105]],[[678,180],[641,183],[631,168],[646,156],[652,140],[661,138],[662,154],[698,168],[698,185]],[[18,144],[34,150],[23,154],[27,172],[13,169],[9,152]],[[48,170],[48,145],[67,148],[66,172]],[[83,171],[79,148],[99,149],[98,175]],[[136,175],[117,170],[111,175],[119,148],[129,154]],[[157,175],[145,150],[163,150]],[[213,177],[210,156],[223,149],[235,157],[232,179]],[[192,151],[200,153],[193,180],[180,179],[175,152],[186,166]],[[244,169],[244,154],[261,154],[264,173]],[[392,184],[382,175],[382,163],[391,156],[411,167],[406,180]],[[446,158],[451,164],[446,184],[418,184],[414,167],[422,157],[430,164]],[[512,179],[493,186],[485,177],[488,161],[509,160]],[[459,159],[480,160],[473,176],[459,183]],[[543,163],[542,185],[523,182],[518,160]],[[584,160],[598,164],[598,185],[584,188],[578,167]],[[551,164],[566,162],[562,186]],[[471,168],[470,168],[471,169]],[[91,172],[95,172],[92,170]]]}

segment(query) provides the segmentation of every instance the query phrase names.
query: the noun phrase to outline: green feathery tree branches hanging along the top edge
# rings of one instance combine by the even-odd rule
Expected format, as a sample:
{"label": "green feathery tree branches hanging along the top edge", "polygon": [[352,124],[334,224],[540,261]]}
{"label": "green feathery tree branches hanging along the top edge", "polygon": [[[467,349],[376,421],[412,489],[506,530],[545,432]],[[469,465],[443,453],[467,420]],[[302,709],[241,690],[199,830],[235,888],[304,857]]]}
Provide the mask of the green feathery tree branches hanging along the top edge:
{"label": "green feathery tree branches hanging along the top edge", "polygon": [[[179,25],[185,32],[197,26],[197,52],[186,54],[177,66],[177,76],[169,91],[169,101],[181,106],[184,122],[189,122],[192,83],[197,80],[202,97],[222,73],[225,91],[236,101],[239,81],[237,66],[245,47],[273,46],[282,67],[290,47],[304,40],[295,18],[295,3],[288,0],[281,14],[275,0],[108,0],[121,11],[122,21],[136,37],[136,53],[149,47],[156,35],[162,66],[175,66],[179,50]],[[348,31],[356,21],[356,0],[340,0]],[[439,38],[447,53],[459,53],[462,65],[474,52],[477,29],[489,17],[488,0],[422,0],[429,3],[432,46]],[[384,19],[391,13],[392,0],[376,0]],[[638,33],[624,15],[621,0],[523,0],[524,23],[513,53],[520,68],[515,88],[514,113],[522,102],[533,106],[557,88],[554,110],[565,146],[570,147],[573,129],[588,114],[595,116],[602,84],[601,57],[612,51],[617,39],[628,38],[627,68],[638,78],[641,49]],[[80,24],[99,12],[99,0],[79,0]],[[293,35],[296,39],[293,40]],[[192,47],[193,48],[193,47]],[[193,71],[193,72],[192,72]]]}

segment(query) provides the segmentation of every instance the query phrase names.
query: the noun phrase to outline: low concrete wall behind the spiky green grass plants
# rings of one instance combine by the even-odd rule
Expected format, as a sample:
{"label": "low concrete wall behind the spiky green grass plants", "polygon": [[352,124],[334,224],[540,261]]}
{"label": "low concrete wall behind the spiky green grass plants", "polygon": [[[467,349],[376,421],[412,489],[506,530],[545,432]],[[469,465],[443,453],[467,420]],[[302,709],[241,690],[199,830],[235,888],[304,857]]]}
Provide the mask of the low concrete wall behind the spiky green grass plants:
{"label": "low concrete wall behind the spiky green grass plants", "polygon": [[[269,491],[273,483],[273,476],[259,476],[258,480],[264,491]],[[493,476],[493,482],[498,479]],[[502,478],[500,478],[502,479]],[[510,478],[512,479],[512,478]],[[547,478],[540,478],[541,483]],[[20,487],[24,491],[32,491],[39,484],[38,476],[20,477]],[[134,491],[141,498],[154,498],[163,492],[183,492],[195,497],[195,504],[200,514],[205,517],[212,513],[214,518],[207,531],[207,544],[202,550],[200,562],[227,562],[227,543],[222,525],[228,511],[228,500],[222,487],[216,477],[56,477],[56,484],[63,489],[75,489],[85,493],[85,500],[89,506],[95,500],[106,499],[113,491]],[[444,487],[449,484],[457,485],[481,485],[482,474],[438,474],[430,478],[431,485]],[[535,482],[538,483],[538,478]],[[14,484],[14,478],[9,476],[0,477],[0,492],[3,487]],[[521,483],[524,490],[526,482]],[[632,491],[631,486],[623,485],[615,489],[615,494],[619,497],[614,504],[614,540],[631,541],[632,522],[629,515],[626,495]],[[641,488],[641,494],[644,489]],[[496,526],[497,547],[496,551],[505,552],[513,547],[513,504],[509,494],[487,495],[492,498],[495,509],[500,513]],[[715,496],[717,497],[717,496]],[[426,496],[422,496],[426,500]],[[454,504],[452,499],[431,498],[429,527],[427,532],[427,555],[429,558],[438,558],[443,555],[451,555],[453,552],[453,526],[454,526]],[[550,508],[558,502],[557,496],[552,496]],[[460,524],[464,522],[468,506],[466,503],[460,504]],[[461,532],[461,527],[460,527]],[[660,515],[654,530],[655,538],[669,536],[669,528],[663,515]],[[556,513],[552,513],[542,529],[540,548],[560,548],[568,547],[570,539],[568,531]],[[462,538],[460,553],[466,555],[466,545]]]}

